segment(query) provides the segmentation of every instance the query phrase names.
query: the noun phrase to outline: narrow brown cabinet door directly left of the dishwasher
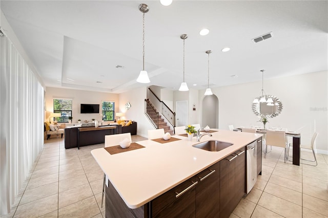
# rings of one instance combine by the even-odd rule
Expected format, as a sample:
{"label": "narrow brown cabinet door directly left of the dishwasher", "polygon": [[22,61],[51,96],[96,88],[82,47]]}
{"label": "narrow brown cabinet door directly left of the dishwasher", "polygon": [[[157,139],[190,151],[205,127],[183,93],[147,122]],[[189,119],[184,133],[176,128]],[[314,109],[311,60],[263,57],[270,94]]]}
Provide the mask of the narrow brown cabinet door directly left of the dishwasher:
{"label": "narrow brown cabinet door directly left of the dishwasher", "polygon": [[235,159],[235,202],[234,207],[236,207],[245,194],[245,184],[246,184],[246,153],[245,148],[239,149],[235,152],[238,157]]}

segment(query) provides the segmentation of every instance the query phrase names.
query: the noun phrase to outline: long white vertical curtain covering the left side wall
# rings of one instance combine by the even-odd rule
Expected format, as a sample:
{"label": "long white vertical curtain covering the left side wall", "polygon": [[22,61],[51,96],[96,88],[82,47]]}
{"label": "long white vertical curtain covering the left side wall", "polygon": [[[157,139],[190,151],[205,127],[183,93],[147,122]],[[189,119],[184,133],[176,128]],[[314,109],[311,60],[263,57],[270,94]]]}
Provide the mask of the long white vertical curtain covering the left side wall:
{"label": "long white vertical curtain covering the left side wall", "polygon": [[0,212],[7,214],[44,144],[44,88],[0,36]]}

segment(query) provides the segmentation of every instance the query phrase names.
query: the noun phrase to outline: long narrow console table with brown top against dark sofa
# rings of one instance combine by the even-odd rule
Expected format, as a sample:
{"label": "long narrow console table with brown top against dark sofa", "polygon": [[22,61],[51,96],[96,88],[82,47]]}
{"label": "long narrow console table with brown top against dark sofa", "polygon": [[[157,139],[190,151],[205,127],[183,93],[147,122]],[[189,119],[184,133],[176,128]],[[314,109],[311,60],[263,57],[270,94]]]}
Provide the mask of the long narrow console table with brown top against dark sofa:
{"label": "long narrow console table with brown top against dark sofa", "polygon": [[80,149],[80,143],[83,145],[104,143],[105,136],[115,134],[115,130],[116,125],[77,128],[77,148]]}

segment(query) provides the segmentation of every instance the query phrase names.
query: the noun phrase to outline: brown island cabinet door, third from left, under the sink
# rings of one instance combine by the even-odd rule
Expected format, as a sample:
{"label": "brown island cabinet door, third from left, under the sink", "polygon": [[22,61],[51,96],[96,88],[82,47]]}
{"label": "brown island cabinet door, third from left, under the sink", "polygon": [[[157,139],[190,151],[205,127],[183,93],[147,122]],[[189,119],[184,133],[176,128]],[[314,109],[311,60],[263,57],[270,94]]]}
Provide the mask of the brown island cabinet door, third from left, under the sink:
{"label": "brown island cabinet door, third from left, under the sink", "polygon": [[229,217],[234,207],[235,155],[220,161],[220,217]]}

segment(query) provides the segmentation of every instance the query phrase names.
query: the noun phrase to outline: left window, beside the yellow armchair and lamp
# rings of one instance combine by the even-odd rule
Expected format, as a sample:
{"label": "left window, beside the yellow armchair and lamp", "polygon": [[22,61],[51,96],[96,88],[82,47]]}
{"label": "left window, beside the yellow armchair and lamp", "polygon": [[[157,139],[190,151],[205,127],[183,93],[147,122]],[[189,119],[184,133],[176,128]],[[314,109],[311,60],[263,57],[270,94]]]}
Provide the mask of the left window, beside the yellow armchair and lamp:
{"label": "left window, beside the yellow armchair and lamp", "polygon": [[58,123],[68,123],[68,118],[72,117],[72,99],[53,99],[53,112],[60,113],[61,117],[55,117]]}

